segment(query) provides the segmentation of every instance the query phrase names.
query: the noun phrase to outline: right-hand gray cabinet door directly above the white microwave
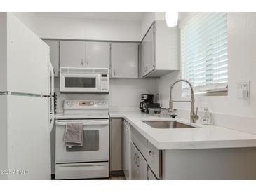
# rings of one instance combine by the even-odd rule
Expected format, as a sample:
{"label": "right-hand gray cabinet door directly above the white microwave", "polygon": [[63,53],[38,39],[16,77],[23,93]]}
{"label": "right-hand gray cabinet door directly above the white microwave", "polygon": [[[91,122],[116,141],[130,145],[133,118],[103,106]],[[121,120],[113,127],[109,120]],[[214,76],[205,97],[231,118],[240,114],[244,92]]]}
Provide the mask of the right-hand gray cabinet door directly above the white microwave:
{"label": "right-hand gray cabinet door directly above the white microwave", "polygon": [[110,43],[86,42],[86,67],[107,68],[110,65]]}

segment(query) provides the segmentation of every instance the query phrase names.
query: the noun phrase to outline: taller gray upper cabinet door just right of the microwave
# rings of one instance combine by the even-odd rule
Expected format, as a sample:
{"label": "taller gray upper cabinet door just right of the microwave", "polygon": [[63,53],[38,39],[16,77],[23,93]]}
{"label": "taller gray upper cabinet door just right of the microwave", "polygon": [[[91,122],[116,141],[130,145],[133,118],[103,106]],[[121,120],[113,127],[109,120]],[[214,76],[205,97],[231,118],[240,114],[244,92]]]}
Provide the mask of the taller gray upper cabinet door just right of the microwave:
{"label": "taller gray upper cabinet door just right of the microwave", "polygon": [[112,78],[138,78],[139,44],[112,43]]}

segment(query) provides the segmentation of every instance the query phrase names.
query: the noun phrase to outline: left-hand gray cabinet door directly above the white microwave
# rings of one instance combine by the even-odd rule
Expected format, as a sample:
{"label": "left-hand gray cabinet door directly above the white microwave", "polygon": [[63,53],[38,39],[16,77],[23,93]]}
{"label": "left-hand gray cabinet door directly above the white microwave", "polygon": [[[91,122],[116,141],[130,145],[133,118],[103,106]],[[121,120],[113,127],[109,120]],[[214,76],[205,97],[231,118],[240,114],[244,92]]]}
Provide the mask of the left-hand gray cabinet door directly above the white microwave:
{"label": "left-hand gray cabinet door directly above the white microwave", "polygon": [[86,43],[60,41],[60,67],[87,67]]}

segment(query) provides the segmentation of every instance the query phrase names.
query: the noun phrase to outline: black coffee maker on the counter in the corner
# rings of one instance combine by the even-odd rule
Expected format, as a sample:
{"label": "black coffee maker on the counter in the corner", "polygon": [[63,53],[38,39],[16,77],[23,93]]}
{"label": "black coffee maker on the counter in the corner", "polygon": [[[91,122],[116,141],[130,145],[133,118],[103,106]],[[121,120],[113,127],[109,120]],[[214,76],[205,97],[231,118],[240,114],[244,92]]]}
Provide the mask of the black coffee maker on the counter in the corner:
{"label": "black coffee maker on the counter in the corner", "polygon": [[153,94],[142,94],[140,95],[142,102],[140,102],[140,111],[143,113],[149,113],[148,108],[157,108],[159,107],[159,103],[154,103],[154,95]]}

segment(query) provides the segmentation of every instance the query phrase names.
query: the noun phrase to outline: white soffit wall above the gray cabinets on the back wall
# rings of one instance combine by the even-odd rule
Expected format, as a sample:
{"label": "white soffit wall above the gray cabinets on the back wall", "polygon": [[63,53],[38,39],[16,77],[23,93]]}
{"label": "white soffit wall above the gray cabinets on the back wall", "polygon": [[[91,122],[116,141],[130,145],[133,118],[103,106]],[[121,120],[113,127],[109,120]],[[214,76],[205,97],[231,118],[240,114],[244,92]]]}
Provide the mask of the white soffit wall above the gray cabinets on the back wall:
{"label": "white soffit wall above the gray cabinets on the back wall", "polygon": [[140,41],[140,22],[38,18],[39,36],[56,39]]}

